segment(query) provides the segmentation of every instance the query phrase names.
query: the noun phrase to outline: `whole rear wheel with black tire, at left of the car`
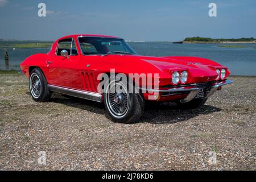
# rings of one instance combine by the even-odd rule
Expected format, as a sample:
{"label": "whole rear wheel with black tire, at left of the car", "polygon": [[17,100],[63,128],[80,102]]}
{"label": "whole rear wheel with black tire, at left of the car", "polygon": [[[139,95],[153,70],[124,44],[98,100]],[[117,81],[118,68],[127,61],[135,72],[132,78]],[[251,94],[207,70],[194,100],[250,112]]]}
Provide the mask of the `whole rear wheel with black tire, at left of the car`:
{"label": "whole rear wheel with black tire, at left of the car", "polygon": [[40,68],[34,68],[30,72],[29,87],[34,101],[46,102],[51,98],[46,77]]}

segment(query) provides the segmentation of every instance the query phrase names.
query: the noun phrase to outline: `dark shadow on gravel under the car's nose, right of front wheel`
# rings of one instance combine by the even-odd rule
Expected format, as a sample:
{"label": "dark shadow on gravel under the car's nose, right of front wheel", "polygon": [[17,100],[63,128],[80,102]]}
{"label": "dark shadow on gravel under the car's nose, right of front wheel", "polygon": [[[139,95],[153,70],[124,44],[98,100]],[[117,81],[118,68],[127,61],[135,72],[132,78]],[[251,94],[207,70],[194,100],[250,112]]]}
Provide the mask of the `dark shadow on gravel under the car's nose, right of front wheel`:
{"label": "dark shadow on gravel under the car's nose, right of front wheel", "polygon": [[198,115],[207,115],[221,111],[220,108],[204,105],[199,109],[182,110],[175,103],[164,102],[163,104],[146,104],[145,113],[141,118],[141,122],[148,123],[177,123],[187,121],[188,119],[197,117]]}

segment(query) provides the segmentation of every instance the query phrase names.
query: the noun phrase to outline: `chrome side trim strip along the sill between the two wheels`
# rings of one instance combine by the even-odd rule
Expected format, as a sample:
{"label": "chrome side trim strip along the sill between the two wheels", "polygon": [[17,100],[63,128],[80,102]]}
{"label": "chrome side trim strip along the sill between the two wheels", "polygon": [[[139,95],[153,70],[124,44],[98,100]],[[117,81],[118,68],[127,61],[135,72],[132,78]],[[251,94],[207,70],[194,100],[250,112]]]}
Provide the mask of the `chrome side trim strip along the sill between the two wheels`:
{"label": "chrome side trim strip along the sill between the two wheels", "polygon": [[73,96],[73,97],[85,98],[91,101],[102,102],[100,93],[69,89],[69,88],[64,88],[64,87],[55,86],[55,85],[48,85],[48,86],[49,86],[49,90],[51,90],[52,92],[62,93],[62,94],[66,94],[68,96]]}

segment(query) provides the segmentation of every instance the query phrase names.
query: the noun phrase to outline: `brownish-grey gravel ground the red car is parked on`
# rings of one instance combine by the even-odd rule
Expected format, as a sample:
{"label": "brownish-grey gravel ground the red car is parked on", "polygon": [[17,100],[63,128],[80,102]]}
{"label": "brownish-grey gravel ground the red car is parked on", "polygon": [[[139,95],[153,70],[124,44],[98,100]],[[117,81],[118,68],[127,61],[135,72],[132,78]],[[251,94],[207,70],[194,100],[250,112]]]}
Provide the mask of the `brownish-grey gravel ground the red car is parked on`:
{"label": "brownish-grey gravel ground the red car is parked on", "polygon": [[54,94],[36,103],[23,75],[0,74],[0,170],[255,170],[256,77],[230,78],[201,109],[148,106],[125,125],[96,102]]}

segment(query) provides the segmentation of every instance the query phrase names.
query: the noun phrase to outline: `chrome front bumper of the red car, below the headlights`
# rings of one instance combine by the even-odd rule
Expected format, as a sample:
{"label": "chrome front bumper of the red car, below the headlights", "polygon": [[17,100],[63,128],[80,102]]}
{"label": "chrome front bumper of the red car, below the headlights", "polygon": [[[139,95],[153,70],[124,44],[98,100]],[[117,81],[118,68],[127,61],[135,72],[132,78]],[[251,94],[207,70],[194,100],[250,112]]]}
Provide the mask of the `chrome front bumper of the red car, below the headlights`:
{"label": "chrome front bumper of the red car, below the headlights", "polygon": [[[209,92],[207,92],[204,97],[204,98],[207,98],[207,97],[212,96],[218,90],[218,88],[220,88],[220,86],[228,85],[228,84],[232,84],[232,83],[233,83],[232,80],[223,80],[223,81],[217,81],[217,82],[207,82],[207,83],[175,86],[174,88],[170,88],[170,89],[166,89],[166,90],[144,89],[144,88],[140,88],[140,89],[147,90],[148,92],[151,92],[151,93],[152,92],[162,93],[163,97],[188,93],[187,97],[183,98],[183,100],[180,101],[181,103],[185,103],[185,102],[189,102],[189,101],[193,100],[197,96],[197,93],[199,93],[199,91],[202,87],[201,86],[202,84],[209,84],[208,85]],[[164,94],[164,93],[168,93],[168,94]]]}

